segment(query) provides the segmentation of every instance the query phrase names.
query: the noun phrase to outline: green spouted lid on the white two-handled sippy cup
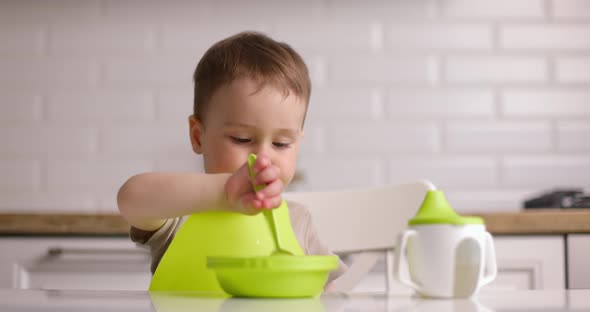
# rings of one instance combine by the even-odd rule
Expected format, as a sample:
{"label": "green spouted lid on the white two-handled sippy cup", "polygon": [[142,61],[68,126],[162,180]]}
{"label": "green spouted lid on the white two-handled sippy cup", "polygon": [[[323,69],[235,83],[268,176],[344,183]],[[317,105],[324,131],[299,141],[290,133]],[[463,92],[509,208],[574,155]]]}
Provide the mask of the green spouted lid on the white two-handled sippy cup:
{"label": "green spouted lid on the white two-handled sippy cup", "polygon": [[409,225],[420,224],[484,224],[480,217],[464,217],[460,216],[451,208],[445,194],[440,191],[428,191],[420,210],[416,216],[408,222]]}

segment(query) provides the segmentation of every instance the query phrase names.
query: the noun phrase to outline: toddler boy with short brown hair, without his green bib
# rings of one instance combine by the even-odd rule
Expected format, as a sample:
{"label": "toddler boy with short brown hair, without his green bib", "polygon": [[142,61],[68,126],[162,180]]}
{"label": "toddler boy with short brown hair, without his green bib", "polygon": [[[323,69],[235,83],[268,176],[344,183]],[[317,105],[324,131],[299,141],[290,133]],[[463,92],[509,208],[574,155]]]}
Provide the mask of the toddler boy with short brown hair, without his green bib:
{"label": "toddler boy with short brown hair, without his green bib", "polygon": [[[242,32],[214,44],[194,73],[189,117],[193,151],[205,173],[143,173],[117,196],[131,239],[149,247],[152,273],[186,217],[211,210],[247,215],[274,209],[295,174],[311,92],[302,58],[287,44]],[[247,157],[257,154],[254,181]],[[253,184],[266,187],[256,193]],[[289,202],[297,241],[308,255],[332,254],[318,239],[308,210]],[[345,270],[340,262],[328,282]]]}

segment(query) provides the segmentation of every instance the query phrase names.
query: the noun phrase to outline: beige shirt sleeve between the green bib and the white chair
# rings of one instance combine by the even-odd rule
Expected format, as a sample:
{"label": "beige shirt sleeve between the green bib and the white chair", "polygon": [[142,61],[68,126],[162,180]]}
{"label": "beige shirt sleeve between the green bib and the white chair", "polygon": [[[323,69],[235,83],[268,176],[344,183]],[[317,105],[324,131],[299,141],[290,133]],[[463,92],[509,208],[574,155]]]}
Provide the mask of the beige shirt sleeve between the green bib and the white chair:
{"label": "beige shirt sleeve between the green bib and the white chair", "polygon": [[[293,208],[291,208],[293,207]],[[334,253],[326,246],[318,235],[318,232],[313,224],[311,213],[307,208],[301,204],[289,202],[289,209],[293,209],[291,216],[293,220],[293,229],[295,235],[300,238],[300,245],[306,255],[334,255]],[[299,232],[299,233],[298,233]],[[344,272],[346,272],[347,266],[338,258],[338,268],[332,272],[328,277],[328,282],[331,283]]]}

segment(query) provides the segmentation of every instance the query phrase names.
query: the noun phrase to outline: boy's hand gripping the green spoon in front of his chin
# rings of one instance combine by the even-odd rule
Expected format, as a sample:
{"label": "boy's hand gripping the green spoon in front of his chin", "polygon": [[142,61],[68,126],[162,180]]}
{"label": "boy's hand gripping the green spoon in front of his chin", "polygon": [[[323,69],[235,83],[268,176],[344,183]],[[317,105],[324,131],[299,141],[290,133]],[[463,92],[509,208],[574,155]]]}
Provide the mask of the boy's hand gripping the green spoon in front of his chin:
{"label": "boy's hand gripping the green spoon in front of his chin", "polygon": [[[254,215],[261,209],[273,209],[281,205],[283,182],[280,170],[274,166],[270,158],[259,154],[252,166],[254,181],[250,178],[248,163],[244,163],[225,184],[225,196],[231,209],[247,215]],[[258,193],[254,191],[254,184],[266,185]]]}

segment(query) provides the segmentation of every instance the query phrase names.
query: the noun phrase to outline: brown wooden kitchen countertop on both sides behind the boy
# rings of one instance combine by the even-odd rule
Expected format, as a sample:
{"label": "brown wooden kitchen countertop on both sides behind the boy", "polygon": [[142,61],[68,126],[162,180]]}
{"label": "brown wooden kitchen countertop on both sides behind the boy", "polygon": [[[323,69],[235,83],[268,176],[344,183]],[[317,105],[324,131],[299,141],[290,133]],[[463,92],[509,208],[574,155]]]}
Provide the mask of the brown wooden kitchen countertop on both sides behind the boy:
{"label": "brown wooden kitchen countertop on both sides behind the boy", "polygon": [[[475,213],[492,234],[590,233],[590,209]],[[2,214],[0,235],[128,235],[117,214]]]}

